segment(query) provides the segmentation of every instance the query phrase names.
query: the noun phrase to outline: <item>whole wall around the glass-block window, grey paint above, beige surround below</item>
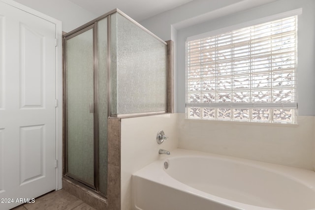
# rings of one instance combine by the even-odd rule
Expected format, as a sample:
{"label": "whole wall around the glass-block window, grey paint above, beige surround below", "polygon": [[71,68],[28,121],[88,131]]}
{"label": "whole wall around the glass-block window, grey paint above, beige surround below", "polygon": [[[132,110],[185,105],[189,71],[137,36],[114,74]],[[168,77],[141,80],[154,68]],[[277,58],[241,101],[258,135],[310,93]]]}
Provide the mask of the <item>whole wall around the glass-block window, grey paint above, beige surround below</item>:
{"label": "whole wall around the glass-block window, grey paint above, beige surround below", "polygon": [[[241,4],[193,0],[141,24],[176,46],[177,112],[185,112],[185,41],[192,35],[218,30],[302,8],[298,17],[298,125],[185,120],[179,114],[179,148],[201,150],[312,169],[315,166],[315,1],[277,0],[241,11]],[[259,1],[266,3],[263,1]],[[250,4],[249,4],[250,5]],[[257,6],[257,5],[256,5]],[[190,13],[187,10],[190,8]]]}

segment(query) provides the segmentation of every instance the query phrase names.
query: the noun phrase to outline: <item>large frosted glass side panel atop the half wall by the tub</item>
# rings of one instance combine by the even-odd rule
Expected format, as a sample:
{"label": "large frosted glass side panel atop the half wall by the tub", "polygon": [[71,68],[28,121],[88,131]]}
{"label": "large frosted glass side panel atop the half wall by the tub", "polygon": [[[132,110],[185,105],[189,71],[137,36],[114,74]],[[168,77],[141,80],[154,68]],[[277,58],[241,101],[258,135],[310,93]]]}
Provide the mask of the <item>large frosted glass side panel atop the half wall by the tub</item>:
{"label": "large frosted glass side panel atop the half wall by the tub", "polygon": [[166,111],[167,46],[121,14],[111,17],[112,114]]}

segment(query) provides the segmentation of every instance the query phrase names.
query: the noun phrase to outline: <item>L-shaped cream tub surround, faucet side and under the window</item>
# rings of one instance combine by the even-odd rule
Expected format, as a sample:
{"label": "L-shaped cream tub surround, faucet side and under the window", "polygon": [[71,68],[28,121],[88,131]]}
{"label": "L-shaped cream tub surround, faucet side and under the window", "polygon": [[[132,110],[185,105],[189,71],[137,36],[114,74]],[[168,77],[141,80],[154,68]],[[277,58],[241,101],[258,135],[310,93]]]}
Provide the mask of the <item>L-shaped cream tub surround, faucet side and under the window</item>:
{"label": "L-shaped cream tub surround, faucet side and under the window", "polygon": [[[207,152],[208,155],[215,153],[236,159],[246,158],[246,161],[254,163],[278,164],[274,165],[275,168],[290,166],[295,167],[290,168],[293,171],[304,169],[310,172],[315,162],[315,117],[299,116],[297,120],[297,125],[187,120],[184,113],[122,119],[121,209],[135,209],[131,205],[132,196],[135,195],[132,192],[134,186],[131,187],[131,175],[157,160],[172,157],[178,151],[196,150],[194,152]],[[159,129],[169,136],[169,140],[161,145],[156,142]],[[159,149],[169,150],[171,155],[158,154]],[[150,179],[145,181],[146,186],[155,187]],[[164,189],[158,190],[162,192]],[[168,193],[178,196],[178,199],[189,199],[183,192],[171,190]],[[146,199],[142,200],[145,202]],[[148,201],[155,202],[154,199]],[[205,202],[199,198],[195,201]],[[218,206],[216,202],[211,205],[216,210],[231,209],[229,206]]]}

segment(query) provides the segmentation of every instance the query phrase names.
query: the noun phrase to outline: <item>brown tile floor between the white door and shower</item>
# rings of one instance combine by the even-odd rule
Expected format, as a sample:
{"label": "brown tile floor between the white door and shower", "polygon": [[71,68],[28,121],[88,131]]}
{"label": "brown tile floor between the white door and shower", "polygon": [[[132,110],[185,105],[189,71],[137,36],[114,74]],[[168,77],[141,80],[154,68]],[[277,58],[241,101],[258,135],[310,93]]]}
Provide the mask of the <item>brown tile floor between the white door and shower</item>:
{"label": "brown tile floor between the white door and shower", "polygon": [[35,203],[23,204],[12,210],[95,210],[95,209],[62,189],[35,198]]}

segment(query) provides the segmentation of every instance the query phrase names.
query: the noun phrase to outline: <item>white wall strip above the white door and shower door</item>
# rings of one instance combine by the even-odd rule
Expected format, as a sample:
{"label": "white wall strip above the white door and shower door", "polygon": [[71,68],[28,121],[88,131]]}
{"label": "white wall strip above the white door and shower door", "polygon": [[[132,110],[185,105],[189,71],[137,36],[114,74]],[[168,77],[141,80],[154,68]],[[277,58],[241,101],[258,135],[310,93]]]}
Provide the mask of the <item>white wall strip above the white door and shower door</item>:
{"label": "white wall strip above the white door and shower door", "polygon": [[[69,32],[96,18],[95,14],[69,0],[15,0],[32,9],[63,22],[63,31]],[[106,11],[104,11],[105,13]]]}

